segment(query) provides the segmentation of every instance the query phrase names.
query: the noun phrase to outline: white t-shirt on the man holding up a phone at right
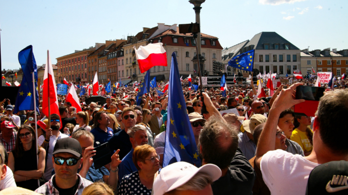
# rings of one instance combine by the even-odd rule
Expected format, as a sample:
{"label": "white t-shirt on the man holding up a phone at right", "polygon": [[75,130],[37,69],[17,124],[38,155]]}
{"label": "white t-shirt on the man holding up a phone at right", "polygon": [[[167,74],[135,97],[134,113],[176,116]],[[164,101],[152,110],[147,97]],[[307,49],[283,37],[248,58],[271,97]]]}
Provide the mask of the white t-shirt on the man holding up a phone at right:
{"label": "white t-shirt on the man holding up a phone at right", "polygon": [[271,195],[304,195],[309,174],[318,165],[283,150],[269,151],[262,156],[260,164]]}

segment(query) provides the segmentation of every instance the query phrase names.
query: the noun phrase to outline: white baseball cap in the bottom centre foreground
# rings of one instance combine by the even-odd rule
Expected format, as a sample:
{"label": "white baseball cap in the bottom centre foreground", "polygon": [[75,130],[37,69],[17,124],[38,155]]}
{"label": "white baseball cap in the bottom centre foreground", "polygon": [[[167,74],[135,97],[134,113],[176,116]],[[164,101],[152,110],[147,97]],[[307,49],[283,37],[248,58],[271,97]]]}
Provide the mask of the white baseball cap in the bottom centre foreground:
{"label": "white baseball cap in the bottom centre foreground", "polygon": [[212,181],[221,177],[221,170],[215,164],[205,164],[197,168],[188,162],[175,162],[164,167],[156,177],[152,188],[154,195],[163,195],[184,185],[197,173],[208,174]]}

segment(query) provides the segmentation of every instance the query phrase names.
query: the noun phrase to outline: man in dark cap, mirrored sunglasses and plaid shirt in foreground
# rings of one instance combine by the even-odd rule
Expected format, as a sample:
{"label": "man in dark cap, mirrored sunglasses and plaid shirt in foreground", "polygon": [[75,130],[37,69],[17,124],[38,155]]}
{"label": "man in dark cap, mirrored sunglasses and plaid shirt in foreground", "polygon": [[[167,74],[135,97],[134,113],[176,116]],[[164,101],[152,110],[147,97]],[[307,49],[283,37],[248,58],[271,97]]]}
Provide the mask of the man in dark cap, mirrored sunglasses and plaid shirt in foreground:
{"label": "man in dark cap, mirrored sunglasses and plaid shirt in foreground", "polygon": [[80,143],[70,137],[59,139],[52,155],[56,174],[35,192],[43,195],[81,195],[92,182],[77,174],[82,164]]}

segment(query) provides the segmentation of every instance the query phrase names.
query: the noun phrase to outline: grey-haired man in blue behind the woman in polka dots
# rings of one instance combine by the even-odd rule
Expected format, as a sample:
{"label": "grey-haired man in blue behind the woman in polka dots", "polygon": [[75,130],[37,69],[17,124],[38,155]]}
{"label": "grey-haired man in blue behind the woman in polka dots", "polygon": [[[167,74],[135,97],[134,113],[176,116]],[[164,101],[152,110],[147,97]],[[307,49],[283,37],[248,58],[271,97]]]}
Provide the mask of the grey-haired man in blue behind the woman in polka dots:
{"label": "grey-haired man in blue behind the woman in polka dots", "polygon": [[135,147],[147,144],[148,139],[146,128],[141,124],[136,124],[134,127],[128,129],[127,134],[129,135],[129,140],[132,144],[132,150],[124,156],[119,164],[118,176],[120,180],[123,176],[129,175],[138,170],[133,162],[133,152]]}

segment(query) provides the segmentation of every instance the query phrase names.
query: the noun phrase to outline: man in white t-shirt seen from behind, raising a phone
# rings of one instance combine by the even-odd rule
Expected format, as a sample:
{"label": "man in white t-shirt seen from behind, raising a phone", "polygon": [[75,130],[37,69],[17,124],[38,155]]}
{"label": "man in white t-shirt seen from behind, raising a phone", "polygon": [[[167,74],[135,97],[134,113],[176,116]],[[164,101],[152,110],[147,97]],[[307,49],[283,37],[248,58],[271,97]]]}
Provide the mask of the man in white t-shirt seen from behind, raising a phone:
{"label": "man in white t-shirt seen from behind, raising a phone", "polygon": [[348,110],[348,90],[330,91],[320,99],[313,125],[313,151],[309,156],[275,150],[274,135],[280,114],[304,102],[292,98],[294,89],[299,85],[302,83],[283,89],[274,101],[264,128],[267,131],[262,131],[256,149],[256,165],[261,168],[263,180],[272,195],[304,195],[314,167],[330,161],[348,161],[348,124],[344,122]]}

